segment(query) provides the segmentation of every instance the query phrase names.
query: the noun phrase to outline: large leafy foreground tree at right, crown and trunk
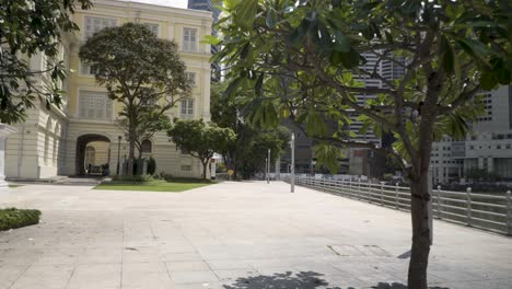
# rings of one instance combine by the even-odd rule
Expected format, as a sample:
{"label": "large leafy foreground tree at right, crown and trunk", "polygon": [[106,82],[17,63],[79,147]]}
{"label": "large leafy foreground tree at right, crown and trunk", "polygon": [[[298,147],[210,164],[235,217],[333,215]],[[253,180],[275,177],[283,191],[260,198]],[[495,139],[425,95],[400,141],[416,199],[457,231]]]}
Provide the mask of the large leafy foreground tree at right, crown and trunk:
{"label": "large leafy foreground tree at right, crown and trunk", "polygon": [[[225,0],[226,18],[219,21],[223,38],[211,42],[223,46],[214,59],[230,67],[228,90],[253,91],[247,95],[254,122],[276,125],[282,112],[305,123],[324,148],[366,147],[394,155],[411,183],[408,285],[426,289],[432,141],[463,137],[480,111],[478,93],[511,83],[511,5],[499,0]],[[377,59],[373,66],[370,56]],[[381,76],[383,61],[405,73],[396,80]],[[363,78],[382,85],[357,81]],[[326,116],[346,124],[354,113],[364,127],[392,131],[393,147],[354,142],[342,130],[327,134]]]}

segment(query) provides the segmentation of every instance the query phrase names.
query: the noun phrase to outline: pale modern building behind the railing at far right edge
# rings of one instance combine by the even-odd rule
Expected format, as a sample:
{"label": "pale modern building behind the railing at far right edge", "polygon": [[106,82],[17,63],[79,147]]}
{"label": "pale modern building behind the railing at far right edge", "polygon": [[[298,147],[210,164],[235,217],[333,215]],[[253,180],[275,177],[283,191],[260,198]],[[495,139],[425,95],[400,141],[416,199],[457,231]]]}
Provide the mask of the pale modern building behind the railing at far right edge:
{"label": "pale modern building behind the railing at far right edge", "polygon": [[464,140],[444,137],[432,148],[432,178],[445,184],[484,170],[498,180],[512,181],[512,86],[482,94],[486,114],[473,124]]}

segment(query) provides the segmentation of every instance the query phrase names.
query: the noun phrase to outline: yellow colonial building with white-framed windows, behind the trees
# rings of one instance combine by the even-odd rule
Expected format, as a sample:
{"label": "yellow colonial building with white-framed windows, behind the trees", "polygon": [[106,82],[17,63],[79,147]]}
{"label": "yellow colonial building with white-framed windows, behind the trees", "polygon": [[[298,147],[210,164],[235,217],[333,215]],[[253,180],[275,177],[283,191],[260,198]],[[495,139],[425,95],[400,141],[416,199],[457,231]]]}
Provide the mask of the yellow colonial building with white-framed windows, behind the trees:
{"label": "yellow colonial building with white-framed windows, behind the trees", "polygon": [[[36,103],[26,122],[9,136],[5,149],[5,176],[11,180],[42,180],[58,175],[81,175],[89,164],[108,164],[117,173],[128,153],[128,143],[116,127],[119,103],[98,86],[86,63],[78,56],[80,46],[95,32],[138,22],[148,25],[159,37],[178,45],[187,77],[193,80],[190,99],[168,112],[171,118],[210,119],[210,46],[200,39],[211,33],[210,12],[143,4],[128,1],[96,0],[90,10],[72,15],[80,31],[65,35],[60,58],[71,73],[63,83],[61,108]],[[31,67],[43,68],[45,56],[27,59]],[[44,78],[44,76],[42,77]],[[43,81],[43,80],[37,80]],[[43,85],[43,83],[42,83]],[[156,172],[174,176],[200,176],[200,163],[177,150],[165,132],[158,132],[143,143],[143,155],[156,160]]]}

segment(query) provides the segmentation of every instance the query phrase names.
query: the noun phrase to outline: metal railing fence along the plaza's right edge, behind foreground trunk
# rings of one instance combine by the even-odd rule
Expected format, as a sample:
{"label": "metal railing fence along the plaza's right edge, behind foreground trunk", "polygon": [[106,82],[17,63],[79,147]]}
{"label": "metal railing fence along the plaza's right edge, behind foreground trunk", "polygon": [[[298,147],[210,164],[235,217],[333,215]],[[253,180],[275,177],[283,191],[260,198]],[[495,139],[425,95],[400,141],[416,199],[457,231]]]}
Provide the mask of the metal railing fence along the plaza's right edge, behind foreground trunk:
{"label": "metal railing fence along the plaza's right edge, behind foreground trunk", "polygon": [[[371,204],[397,209],[410,210],[409,187],[349,182],[333,178],[296,176],[296,185],[319,189],[326,193],[349,197]],[[497,194],[475,194],[467,192],[432,192],[434,218],[475,227],[488,231],[512,235],[512,196],[511,192]]]}

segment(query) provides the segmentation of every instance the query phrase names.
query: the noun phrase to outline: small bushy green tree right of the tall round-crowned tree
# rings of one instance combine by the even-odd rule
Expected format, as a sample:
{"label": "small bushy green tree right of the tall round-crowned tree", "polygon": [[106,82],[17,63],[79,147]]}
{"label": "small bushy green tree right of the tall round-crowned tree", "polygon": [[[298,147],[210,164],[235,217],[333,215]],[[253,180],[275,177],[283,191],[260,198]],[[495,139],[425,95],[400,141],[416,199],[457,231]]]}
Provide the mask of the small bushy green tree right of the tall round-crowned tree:
{"label": "small bushy green tree right of the tall round-crowned tree", "polygon": [[208,163],[213,153],[225,153],[235,139],[235,134],[230,128],[205,124],[202,119],[176,119],[167,134],[177,148],[199,159],[202,164],[202,178],[207,177]]}

